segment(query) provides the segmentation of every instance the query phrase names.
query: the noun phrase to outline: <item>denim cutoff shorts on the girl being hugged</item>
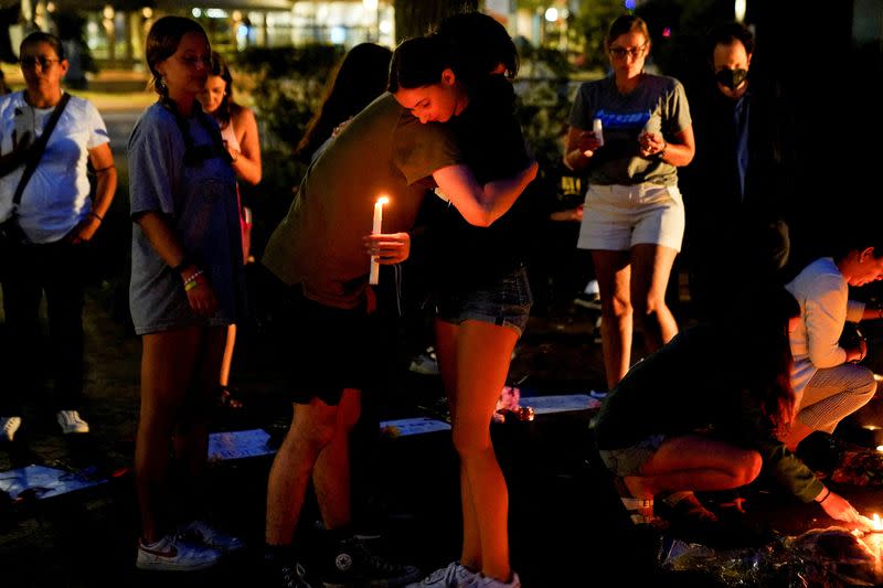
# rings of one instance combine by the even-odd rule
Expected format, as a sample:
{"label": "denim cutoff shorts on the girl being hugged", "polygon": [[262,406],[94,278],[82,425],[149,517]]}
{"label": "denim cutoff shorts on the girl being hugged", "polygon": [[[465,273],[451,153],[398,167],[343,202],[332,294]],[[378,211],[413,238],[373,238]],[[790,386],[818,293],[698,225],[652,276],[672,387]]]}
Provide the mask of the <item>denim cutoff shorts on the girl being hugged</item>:
{"label": "denim cutoff shorts on the girl being hugged", "polygon": [[438,292],[436,317],[454,324],[468,320],[489,322],[512,329],[521,336],[532,304],[528,270],[521,266],[475,290]]}

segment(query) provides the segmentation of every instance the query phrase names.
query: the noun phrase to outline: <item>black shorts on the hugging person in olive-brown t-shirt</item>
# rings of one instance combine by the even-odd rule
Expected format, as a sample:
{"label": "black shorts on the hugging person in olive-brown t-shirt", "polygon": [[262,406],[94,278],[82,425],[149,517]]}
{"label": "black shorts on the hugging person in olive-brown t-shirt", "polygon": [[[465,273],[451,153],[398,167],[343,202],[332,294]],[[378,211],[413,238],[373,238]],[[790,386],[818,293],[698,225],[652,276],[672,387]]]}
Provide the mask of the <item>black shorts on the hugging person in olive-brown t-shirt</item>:
{"label": "black shorts on the hugging person in olive-brown t-shirt", "polygon": [[337,405],[345,388],[376,384],[382,349],[376,313],[364,306],[341,309],[306,298],[300,286],[289,288],[287,317],[290,399],[309,404],[320,398]]}

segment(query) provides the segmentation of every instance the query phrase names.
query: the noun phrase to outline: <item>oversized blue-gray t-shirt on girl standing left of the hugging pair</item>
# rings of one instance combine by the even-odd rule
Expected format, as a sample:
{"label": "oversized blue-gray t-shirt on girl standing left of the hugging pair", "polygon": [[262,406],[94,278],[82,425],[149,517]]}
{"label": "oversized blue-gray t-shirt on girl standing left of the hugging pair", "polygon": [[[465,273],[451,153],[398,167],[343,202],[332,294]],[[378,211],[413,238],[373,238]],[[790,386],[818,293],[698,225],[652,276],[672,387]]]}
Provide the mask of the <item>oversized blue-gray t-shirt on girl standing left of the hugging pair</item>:
{"label": "oversized blue-gray t-shirt on girl standing left of the hugging pair", "polygon": [[[205,120],[215,125],[209,117]],[[187,122],[196,149],[210,149],[212,137],[203,124],[195,116]],[[131,216],[145,212],[168,216],[188,257],[211,282],[220,309],[209,319],[193,313],[181,276],[162,260],[135,223],[129,307],[138,334],[231,324],[244,307],[236,177],[220,157],[184,165],[185,150],[174,115],[167,108],[155,104],[141,114],[129,138]]]}

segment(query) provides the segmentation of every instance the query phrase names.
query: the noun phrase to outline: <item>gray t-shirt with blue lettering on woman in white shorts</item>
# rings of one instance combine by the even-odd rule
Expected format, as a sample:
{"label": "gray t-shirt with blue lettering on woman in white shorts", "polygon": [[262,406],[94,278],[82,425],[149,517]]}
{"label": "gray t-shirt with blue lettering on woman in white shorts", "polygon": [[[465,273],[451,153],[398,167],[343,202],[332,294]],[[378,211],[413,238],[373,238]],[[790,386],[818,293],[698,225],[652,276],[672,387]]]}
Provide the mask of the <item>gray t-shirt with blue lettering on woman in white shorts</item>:
{"label": "gray t-shirt with blue lettering on woman in white shorts", "polygon": [[576,93],[570,125],[592,130],[595,118],[604,126],[604,147],[588,162],[589,183],[678,185],[674,165],[638,153],[638,137],[645,130],[661,131],[671,141],[677,132],[690,127],[690,107],[680,82],[643,74],[638,87],[627,95],[619,94],[613,76],[586,82]]}

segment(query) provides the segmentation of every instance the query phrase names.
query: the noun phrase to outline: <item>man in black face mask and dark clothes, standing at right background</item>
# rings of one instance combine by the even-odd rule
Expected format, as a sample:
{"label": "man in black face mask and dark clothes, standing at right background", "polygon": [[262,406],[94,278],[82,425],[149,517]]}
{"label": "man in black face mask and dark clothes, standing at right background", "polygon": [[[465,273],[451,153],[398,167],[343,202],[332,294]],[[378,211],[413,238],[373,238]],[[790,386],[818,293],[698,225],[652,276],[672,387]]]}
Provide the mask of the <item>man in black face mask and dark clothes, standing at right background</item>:
{"label": "man in black face mask and dark clothes, standing at right background", "polygon": [[737,296],[740,280],[775,276],[789,253],[780,125],[749,74],[754,36],[724,24],[708,46],[713,81],[691,98],[699,105],[696,154],[683,177],[690,293],[700,318]]}

